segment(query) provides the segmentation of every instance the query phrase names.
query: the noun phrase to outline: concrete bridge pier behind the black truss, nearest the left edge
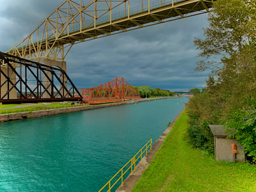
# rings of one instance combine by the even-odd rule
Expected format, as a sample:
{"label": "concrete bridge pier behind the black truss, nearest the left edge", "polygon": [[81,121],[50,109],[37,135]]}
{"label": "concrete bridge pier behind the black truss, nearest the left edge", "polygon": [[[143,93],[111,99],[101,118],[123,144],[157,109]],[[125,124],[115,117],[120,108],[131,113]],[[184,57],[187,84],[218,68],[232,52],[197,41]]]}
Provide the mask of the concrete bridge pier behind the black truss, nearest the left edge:
{"label": "concrete bridge pier behind the black truss, nearest the left edge", "polygon": [[[15,72],[13,72],[13,70],[10,67],[8,67],[8,65],[1,66],[0,70],[7,77],[10,77],[10,81],[13,84],[16,83],[16,74],[15,74]],[[1,73],[1,84],[0,84],[0,86],[5,81],[6,81],[6,77],[4,77],[3,74]],[[6,83],[3,84],[3,86],[1,86],[1,93],[0,93],[1,98],[8,92],[8,90],[10,90],[10,88],[12,88],[12,86],[13,86],[12,83],[6,82]],[[8,95],[4,96],[3,99],[17,99],[17,90],[15,88],[13,88]]]}

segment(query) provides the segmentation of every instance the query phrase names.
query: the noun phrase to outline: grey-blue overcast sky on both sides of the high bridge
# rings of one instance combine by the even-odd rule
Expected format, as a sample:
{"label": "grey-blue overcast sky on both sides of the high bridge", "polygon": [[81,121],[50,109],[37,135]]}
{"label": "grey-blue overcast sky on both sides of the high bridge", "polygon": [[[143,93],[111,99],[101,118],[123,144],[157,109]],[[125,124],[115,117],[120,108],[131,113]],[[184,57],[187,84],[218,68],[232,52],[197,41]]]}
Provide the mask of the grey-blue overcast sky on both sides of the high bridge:
{"label": "grey-blue overcast sky on both sides of the high bridge", "polygon": [[[19,44],[62,2],[0,0],[0,51]],[[202,14],[74,45],[66,58],[68,76],[77,88],[115,77],[172,91],[202,88],[209,73],[195,72],[199,58],[193,40],[202,38],[207,26]]]}

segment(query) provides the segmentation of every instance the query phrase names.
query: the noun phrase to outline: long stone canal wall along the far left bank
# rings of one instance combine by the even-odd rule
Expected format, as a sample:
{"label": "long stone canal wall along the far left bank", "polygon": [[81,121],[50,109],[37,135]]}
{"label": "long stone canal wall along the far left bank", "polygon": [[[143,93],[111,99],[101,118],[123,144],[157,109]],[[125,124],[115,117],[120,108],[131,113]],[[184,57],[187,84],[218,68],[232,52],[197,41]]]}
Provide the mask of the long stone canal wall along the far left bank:
{"label": "long stone canal wall along the far left bank", "polygon": [[161,99],[172,99],[176,97],[170,98],[156,98],[156,99],[147,99],[147,100],[128,100],[124,102],[114,102],[109,104],[100,104],[100,105],[89,105],[89,106],[76,106],[72,108],[60,108],[60,109],[47,109],[41,111],[26,111],[21,113],[8,113],[0,115],[0,123],[1,122],[10,122],[14,120],[24,120],[27,118],[38,118],[43,116],[51,116],[51,115],[59,115],[63,113],[72,113],[77,111],[86,111],[91,109],[100,109],[100,108],[109,108],[113,106],[121,106],[125,104],[136,104],[138,102],[147,102],[152,100],[161,100]]}

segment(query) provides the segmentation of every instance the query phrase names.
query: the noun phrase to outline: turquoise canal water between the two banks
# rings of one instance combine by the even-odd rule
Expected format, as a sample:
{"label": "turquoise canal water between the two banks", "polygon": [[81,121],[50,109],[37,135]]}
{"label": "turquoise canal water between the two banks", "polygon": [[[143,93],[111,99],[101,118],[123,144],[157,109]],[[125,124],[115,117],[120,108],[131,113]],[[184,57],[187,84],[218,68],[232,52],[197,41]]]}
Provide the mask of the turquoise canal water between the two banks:
{"label": "turquoise canal water between the two banks", "polygon": [[[188,98],[0,124],[0,191],[99,191]],[[113,190],[114,191],[114,190]]]}

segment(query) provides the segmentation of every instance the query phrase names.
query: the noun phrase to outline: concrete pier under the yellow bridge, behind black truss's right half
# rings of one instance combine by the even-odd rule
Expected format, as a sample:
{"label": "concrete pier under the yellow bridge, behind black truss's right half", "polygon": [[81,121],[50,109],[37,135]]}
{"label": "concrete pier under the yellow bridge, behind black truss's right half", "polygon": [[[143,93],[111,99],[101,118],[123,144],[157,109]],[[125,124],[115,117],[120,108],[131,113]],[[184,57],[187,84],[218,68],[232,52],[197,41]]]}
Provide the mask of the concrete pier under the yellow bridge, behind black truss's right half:
{"label": "concrete pier under the yellow bridge, behind black truss's right half", "polygon": [[[54,61],[54,60],[44,59],[44,65],[48,65],[50,67],[58,67],[58,68],[64,70],[67,73],[67,64],[66,64],[65,61]],[[51,81],[54,81],[54,79],[52,79],[51,72],[46,72],[46,74],[47,74],[47,76],[51,77]],[[65,87],[67,88],[67,77],[64,76],[64,79],[63,79],[63,77],[60,76],[59,78],[60,78],[61,81],[64,81],[62,83],[64,83]],[[45,88],[47,86],[49,86],[49,84],[51,84],[51,81],[49,81],[49,79],[47,79],[47,77],[44,76],[44,86],[45,86]],[[58,87],[59,85],[55,84],[55,86]],[[52,89],[52,86],[49,86],[49,88],[47,88],[49,93],[52,92],[51,89]],[[65,91],[63,89],[61,90],[61,94],[65,95],[66,93],[67,93],[67,91]],[[47,98],[51,98],[51,97],[48,93],[44,93],[43,98],[47,99]]]}

